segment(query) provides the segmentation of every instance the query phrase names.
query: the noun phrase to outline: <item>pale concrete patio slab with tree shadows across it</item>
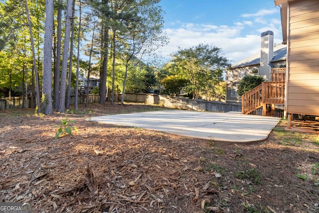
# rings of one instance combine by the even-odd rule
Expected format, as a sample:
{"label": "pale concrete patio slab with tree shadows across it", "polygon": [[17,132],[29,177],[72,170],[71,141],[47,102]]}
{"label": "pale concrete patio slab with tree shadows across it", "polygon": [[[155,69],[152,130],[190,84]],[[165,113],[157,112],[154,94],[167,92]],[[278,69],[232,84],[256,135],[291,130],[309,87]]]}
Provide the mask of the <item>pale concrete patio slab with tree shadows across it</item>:
{"label": "pale concrete patio slab with tree shadows across it", "polygon": [[220,142],[251,143],[266,140],[280,118],[243,115],[240,112],[164,110],[106,115],[87,120]]}

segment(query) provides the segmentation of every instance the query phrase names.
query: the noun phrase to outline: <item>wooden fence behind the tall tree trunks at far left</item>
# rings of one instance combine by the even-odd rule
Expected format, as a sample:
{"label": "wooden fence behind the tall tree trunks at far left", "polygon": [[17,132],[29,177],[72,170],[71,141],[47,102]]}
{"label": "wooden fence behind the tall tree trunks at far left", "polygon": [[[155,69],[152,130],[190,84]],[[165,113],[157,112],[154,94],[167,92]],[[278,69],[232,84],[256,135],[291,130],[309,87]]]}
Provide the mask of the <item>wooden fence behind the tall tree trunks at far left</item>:
{"label": "wooden fence behind the tall tree trunks at far left", "polygon": [[[78,96],[78,104],[84,104],[86,99],[86,95],[79,95]],[[89,94],[89,103],[96,103],[99,102],[99,94]],[[75,103],[75,96],[71,95],[70,97],[70,104]],[[27,107],[31,107],[30,105],[30,98],[27,99]],[[9,98],[0,98],[0,109],[18,109],[23,108],[22,105],[22,97],[11,97]]]}

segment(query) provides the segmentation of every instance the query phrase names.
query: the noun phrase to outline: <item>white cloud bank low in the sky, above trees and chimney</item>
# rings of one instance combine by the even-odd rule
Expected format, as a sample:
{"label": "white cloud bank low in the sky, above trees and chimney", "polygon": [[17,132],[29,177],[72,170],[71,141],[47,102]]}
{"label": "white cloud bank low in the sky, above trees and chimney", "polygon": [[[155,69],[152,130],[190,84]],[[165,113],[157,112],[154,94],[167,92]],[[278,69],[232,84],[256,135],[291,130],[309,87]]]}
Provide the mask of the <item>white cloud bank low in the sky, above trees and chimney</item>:
{"label": "white cloud bank low in the sky, above trees and chimney", "polygon": [[162,47],[162,55],[168,58],[178,47],[189,48],[199,43],[213,44],[222,48],[224,55],[238,62],[260,51],[260,34],[267,30],[274,32],[274,42],[281,43],[281,20],[267,19],[264,15],[278,12],[278,9],[262,9],[256,13],[242,14],[243,20],[231,25],[195,24],[175,21],[164,31],[169,37],[168,45]]}

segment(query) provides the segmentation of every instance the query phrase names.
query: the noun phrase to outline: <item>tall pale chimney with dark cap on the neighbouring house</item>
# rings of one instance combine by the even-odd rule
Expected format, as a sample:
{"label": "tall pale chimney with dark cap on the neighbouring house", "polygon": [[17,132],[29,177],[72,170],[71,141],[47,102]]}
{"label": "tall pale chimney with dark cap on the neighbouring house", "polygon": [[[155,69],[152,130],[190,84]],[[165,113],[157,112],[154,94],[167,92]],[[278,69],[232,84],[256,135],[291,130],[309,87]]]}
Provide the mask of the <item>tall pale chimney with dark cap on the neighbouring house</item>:
{"label": "tall pale chimney with dark cap on the neighbouring house", "polygon": [[261,48],[260,48],[260,66],[258,68],[258,75],[264,76],[270,81],[271,66],[269,62],[274,57],[274,32],[266,31],[261,33]]}

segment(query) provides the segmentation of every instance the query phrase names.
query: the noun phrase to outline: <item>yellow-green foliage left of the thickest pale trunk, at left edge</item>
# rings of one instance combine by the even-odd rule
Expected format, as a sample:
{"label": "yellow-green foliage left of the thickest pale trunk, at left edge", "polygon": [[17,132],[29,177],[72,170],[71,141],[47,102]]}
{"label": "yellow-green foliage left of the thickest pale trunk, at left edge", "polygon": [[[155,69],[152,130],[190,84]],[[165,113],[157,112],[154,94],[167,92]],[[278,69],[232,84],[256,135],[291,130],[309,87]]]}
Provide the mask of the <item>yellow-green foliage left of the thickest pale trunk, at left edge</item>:
{"label": "yellow-green foliage left of the thickest pale trunk, at left edge", "polygon": [[[6,0],[0,2],[0,52],[3,53],[0,76],[3,77],[4,82],[9,84],[8,93],[14,89],[22,91],[25,95],[31,90],[29,93],[31,94],[31,106],[34,106],[35,94],[39,94],[39,92],[35,92],[35,88],[39,89],[42,80],[40,55],[43,46],[40,48],[40,44],[43,44],[43,11],[44,0]],[[32,24],[28,21],[27,14],[30,15]],[[31,25],[30,30],[33,32],[35,55],[37,56],[36,65],[33,67],[29,25]],[[10,69],[9,72],[5,67]],[[35,69],[39,70],[39,75],[34,73]],[[38,76],[38,81],[34,82]],[[5,96],[7,95],[9,94],[5,94]],[[24,98],[23,101],[25,101]],[[25,106],[25,104],[23,105]]]}

